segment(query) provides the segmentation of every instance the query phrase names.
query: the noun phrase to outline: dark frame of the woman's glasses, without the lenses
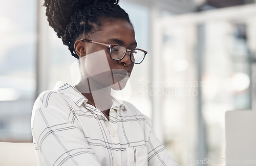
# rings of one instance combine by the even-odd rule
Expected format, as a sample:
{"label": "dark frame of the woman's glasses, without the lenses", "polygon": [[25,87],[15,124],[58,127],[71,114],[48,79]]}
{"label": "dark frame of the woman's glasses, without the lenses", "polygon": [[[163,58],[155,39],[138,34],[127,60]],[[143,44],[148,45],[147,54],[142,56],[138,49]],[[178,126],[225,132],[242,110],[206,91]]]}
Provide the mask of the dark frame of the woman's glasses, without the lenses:
{"label": "dark frame of the woman's glasses, without the lenses", "polygon": [[[97,41],[92,41],[92,40],[87,40],[87,39],[80,39],[80,40],[81,40],[81,41],[87,41],[87,42],[91,42],[91,43],[96,43],[96,44],[101,44],[101,45],[108,46],[108,48],[110,48],[110,58],[111,58],[111,59],[113,59],[112,56],[111,56],[111,52],[112,52],[113,47],[114,47],[114,46],[122,46],[122,47],[125,49],[125,53],[123,54],[122,58],[120,58],[120,59],[113,59],[113,60],[122,60],[122,59],[125,57],[126,53],[128,52],[128,53],[129,53],[130,60],[131,60],[131,62],[133,62],[133,61],[132,61],[132,58],[131,58],[131,53],[132,53],[132,51],[134,51],[134,50],[139,50],[139,51],[144,52],[144,57],[143,57],[143,59],[142,59],[141,62],[140,62],[140,63],[142,63],[143,60],[144,60],[144,58],[145,58],[145,56],[146,56],[146,54],[147,54],[147,51],[145,51],[145,50],[142,50],[142,49],[133,49],[133,50],[129,50],[129,49],[127,49],[124,45],[105,44],[105,43],[101,43],[101,42],[97,42]],[[135,62],[133,62],[133,63],[134,63],[134,64],[140,64],[140,63],[135,63]]]}

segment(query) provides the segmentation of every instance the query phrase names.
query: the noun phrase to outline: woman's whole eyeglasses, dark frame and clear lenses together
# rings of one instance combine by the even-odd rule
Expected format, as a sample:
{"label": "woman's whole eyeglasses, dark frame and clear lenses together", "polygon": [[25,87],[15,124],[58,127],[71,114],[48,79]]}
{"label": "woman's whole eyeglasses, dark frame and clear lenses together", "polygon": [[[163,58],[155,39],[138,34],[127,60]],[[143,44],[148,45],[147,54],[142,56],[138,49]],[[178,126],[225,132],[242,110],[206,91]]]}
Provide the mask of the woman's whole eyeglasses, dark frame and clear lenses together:
{"label": "woman's whole eyeglasses, dark frame and clear lenses together", "polygon": [[146,51],[141,49],[128,50],[123,45],[104,44],[87,39],[80,40],[108,46],[108,48],[110,48],[110,58],[113,60],[121,60],[126,55],[126,53],[129,52],[131,61],[135,64],[140,64],[144,60],[145,55],[147,54]]}

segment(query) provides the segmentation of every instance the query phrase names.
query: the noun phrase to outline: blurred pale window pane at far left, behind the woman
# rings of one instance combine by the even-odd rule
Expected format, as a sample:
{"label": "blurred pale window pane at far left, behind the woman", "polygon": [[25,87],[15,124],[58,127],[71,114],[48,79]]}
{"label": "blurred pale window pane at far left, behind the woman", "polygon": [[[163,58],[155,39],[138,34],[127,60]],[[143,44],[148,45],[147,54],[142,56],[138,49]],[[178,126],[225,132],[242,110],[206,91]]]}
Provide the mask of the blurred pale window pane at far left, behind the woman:
{"label": "blurred pale window pane at far left, behind the woman", "polygon": [[5,1],[0,9],[0,141],[31,141],[36,1]]}

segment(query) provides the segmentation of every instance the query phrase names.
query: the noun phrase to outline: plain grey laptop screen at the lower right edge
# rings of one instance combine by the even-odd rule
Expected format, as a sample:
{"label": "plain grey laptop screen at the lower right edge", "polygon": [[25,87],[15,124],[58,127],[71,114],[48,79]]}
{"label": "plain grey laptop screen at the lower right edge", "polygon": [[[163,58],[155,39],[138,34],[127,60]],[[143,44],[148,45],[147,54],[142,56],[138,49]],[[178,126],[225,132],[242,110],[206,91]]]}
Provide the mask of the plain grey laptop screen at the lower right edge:
{"label": "plain grey laptop screen at the lower right edge", "polygon": [[225,124],[226,166],[256,165],[256,111],[227,111]]}

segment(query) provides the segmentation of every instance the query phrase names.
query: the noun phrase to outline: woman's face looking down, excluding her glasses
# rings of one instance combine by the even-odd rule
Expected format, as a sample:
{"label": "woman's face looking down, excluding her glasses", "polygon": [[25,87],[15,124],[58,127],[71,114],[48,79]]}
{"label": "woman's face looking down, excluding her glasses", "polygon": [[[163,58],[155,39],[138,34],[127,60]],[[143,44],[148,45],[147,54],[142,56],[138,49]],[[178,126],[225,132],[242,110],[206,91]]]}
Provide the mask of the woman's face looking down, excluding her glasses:
{"label": "woman's face looking down, excluding her glasses", "polygon": [[[86,39],[105,44],[124,45],[129,50],[137,46],[132,25],[121,19],[105,22],[100,31]],[[105,87],[123,89],[134,66],[129,53],[127,52],[122,60],[113,60],[108,46],[86,41],[81,44],[84,48],[79,56],[81,73],[83,79],[88,78],[91,91]],[[127,66],[124,66],[124,63]]]}

